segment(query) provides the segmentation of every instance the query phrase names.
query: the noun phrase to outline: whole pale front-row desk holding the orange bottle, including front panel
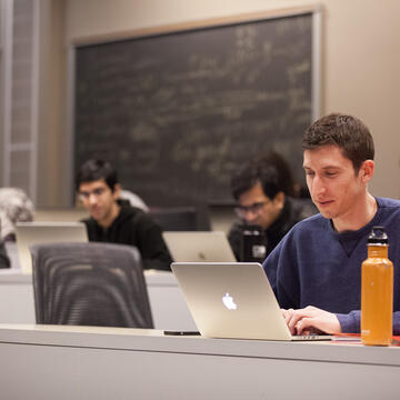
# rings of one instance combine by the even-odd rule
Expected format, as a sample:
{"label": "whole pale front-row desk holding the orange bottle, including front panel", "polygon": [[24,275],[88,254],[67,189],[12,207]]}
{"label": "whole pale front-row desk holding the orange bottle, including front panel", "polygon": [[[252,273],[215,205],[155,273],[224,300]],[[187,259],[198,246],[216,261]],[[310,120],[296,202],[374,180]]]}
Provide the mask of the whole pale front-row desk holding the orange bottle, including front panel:
{"label": "whole pale front-row desk holding the orange bottle, including front panel", "polygon": [[0,326],[3,399],[398,399],[399,348]]}

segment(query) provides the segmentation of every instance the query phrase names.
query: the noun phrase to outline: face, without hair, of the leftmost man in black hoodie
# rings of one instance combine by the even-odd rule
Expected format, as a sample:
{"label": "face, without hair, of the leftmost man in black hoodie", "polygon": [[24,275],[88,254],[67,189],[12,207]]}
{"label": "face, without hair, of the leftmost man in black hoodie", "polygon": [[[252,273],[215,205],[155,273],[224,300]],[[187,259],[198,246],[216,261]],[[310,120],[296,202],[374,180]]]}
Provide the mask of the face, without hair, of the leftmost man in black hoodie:
{"label": "face, without hair, of the leftmost man in black hoodie", "polygon": [[79,187],[79,199],[99,223],[107,221],[112,216],[118,196],[118,189],[111,191],[104,179],[83,182]]}

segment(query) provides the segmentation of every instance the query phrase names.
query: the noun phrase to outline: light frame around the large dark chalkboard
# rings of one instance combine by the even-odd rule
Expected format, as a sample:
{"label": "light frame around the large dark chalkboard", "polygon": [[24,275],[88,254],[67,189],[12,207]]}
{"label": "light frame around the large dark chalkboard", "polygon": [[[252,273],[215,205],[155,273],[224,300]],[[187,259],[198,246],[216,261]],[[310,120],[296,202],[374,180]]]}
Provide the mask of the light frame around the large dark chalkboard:
{"label": "light frame around the large dark chalkboard", "polygon": [[321,86],[321,64],[322,64],[322,7],[320,4],[274,9],[262,12],[242,13],[222,18],[212,18],[207,20],[196,20],[183,23],[149,27],[137,30],[112,32],[107,34],[97,34],[84,38],[73,39],[68,50],[68,90],[67,90],[67,184],[71,188],[71,204],[74,204],[74,68],[76,52],[79,47],[91,44],[103,44],[120,40],[140,39],[152,36],[168,34],[173,32],[184,32],[196,29],[206,29],[212,27],[223,27],[234,23],[251,23],[268,19],[277,19],[284,17],[296,17],[301,14],[311,14],[312,17],[312,77],[311,77],[311,121],[320,117],[322,103],[322,86]]}

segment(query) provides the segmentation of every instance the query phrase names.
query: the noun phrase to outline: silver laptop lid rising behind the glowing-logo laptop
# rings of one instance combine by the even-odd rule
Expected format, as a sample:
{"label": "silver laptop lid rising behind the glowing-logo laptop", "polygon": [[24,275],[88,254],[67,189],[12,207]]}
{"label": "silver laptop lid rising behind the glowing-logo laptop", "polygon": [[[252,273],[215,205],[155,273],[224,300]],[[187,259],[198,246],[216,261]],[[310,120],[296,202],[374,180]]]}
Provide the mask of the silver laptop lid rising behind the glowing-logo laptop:
{"label": "silver laptop lid rising behind the glowing-logo laptop", "polygon": [[224,232],[164,231],[162,237],[177,262],[236,262]]}

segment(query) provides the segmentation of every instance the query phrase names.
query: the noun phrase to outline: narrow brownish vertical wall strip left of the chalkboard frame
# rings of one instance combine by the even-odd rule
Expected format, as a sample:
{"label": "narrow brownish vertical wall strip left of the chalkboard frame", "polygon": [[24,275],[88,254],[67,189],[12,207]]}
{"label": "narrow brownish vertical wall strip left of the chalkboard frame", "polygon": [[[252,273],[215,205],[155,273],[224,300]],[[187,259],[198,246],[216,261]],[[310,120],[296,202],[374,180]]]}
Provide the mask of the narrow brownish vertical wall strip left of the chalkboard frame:
{"label": "narrow brownish vertical wall strip left of the chalkboard frame", "polygon": [[64,1],[40,0],[38,207],[61,207],[70,202],[66,180]]}

